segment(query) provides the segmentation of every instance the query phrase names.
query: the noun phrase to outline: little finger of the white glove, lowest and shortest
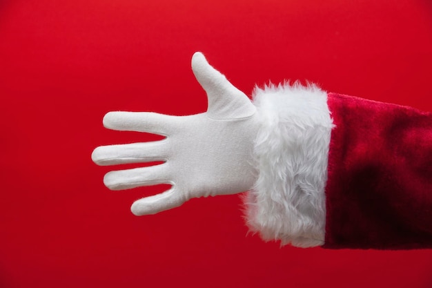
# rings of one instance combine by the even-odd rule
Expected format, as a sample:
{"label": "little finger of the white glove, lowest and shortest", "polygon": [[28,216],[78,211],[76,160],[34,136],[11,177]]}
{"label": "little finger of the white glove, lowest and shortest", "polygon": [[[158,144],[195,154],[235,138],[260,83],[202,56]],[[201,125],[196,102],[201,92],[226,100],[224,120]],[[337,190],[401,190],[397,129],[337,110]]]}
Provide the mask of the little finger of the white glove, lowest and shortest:
{"label": "little finger of the white glove, lowest and shortest", "polygon": [[135,201],[130,207],[130,211],[137,216],[150,215],[179,207],[185,201],[183,195],[172,188],[164,193]]}

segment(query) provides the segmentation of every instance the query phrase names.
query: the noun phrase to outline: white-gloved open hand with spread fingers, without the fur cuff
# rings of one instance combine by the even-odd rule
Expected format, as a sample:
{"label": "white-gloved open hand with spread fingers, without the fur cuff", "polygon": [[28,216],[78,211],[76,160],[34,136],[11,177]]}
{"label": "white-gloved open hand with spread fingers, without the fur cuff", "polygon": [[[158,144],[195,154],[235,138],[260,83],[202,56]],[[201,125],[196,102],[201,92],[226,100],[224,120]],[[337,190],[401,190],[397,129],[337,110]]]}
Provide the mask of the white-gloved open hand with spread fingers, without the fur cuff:
{"label": "white-gloved open hand with spread fingers, without the fur cuff", "polygon": [[164,193],[134,202],[131,210],[135,215],[178,207],[190,198],[239,193],[255,182],[252,151],[259,125],[255,106],[202,53],[193,55],[192,69],[207,93],[206,113],[110,112],[104,117],[106,128],[166,136],[157,142],[100,146],[92,153],[99,165],[164,161],[105,175],[104,184],[112,190],[172,185]]}

